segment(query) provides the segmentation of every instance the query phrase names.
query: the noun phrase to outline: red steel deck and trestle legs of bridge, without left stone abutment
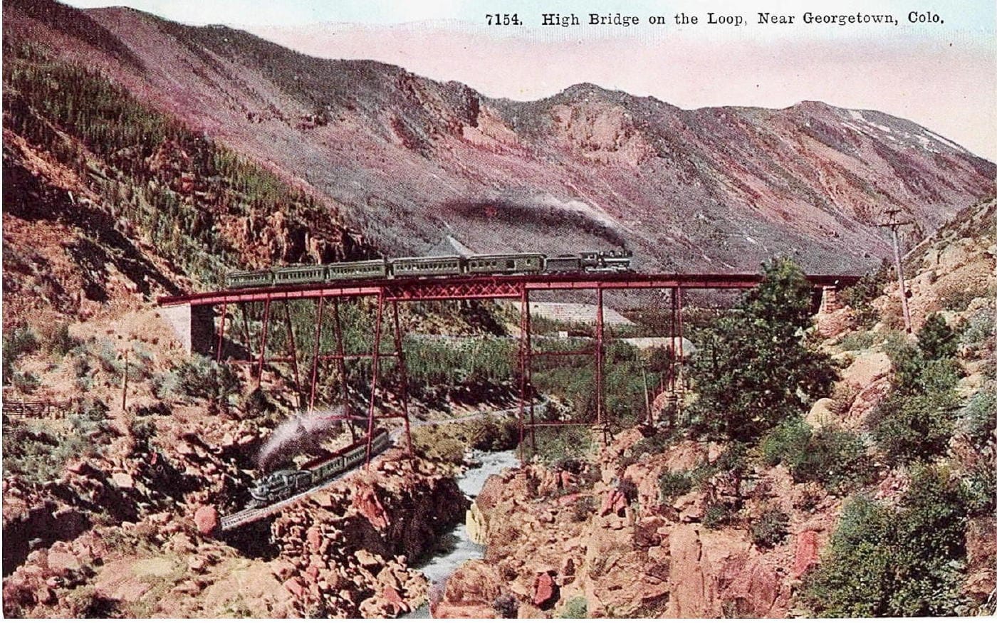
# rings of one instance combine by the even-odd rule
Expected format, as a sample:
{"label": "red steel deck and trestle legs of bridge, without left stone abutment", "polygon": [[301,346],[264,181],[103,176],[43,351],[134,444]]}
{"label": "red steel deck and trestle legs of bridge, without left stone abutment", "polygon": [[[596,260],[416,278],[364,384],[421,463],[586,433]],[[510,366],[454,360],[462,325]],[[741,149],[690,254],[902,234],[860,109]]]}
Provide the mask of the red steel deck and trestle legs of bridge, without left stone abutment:
{"label": "red steel deck and trestle legs of bridge, without left stone abutment", "polygon": [[[823,287],[825,296],[838,284],[848,284],[857,278],[848,276],[816,275],[810,277],[816,287]],[[629,290],[629,289],[661,289],[671,292],[671,348],[669,349],[669,374],[667,382],[662,382],[662,389],[667,389],[673,395],[681,392],[681,369],[684,360],[683,353],[683,320],[682,320],[682,294],[684,289],[746,289],[751,288],[761,282],[761,275],[640,275],[632,273],[623,274],[600,274],[600,275],[500,275],[500,276],[475,276],[457,277],[443,279],[400,279],[382,280],[366,282],[350,282],[345,284],[303,284],[300,286],[281,286],[271,288],[257,288],[232,290],[222,292],[208,292],[180,297],[163,297],[160,299],[162,305],[176,303],[186,303],[191,306],[221,306],[221,320],[218,323],[216,333],[216,344],[214,349],[215,359],[224,359],[223,346],[226,331],[226,319],[229,306],[241,309],[243,321],[242,332],[245,339],[248,359],[229,359],[230,363],[250,366],[250,374],[255,376],[257,387],[262,382],[263,371],[267,363],[288,363],[291,365],[295,391],[299,404],[304,401],[298,357],[298,341],[294,336],[294,330],[290,315],[290,301],[311,300],[315,305],[315,333],[314,347],[312,349],[312,361],[309,368],[310,388],[308,395],[308,410],[314,410],[315,388],[318,382],[319,363],[321,361],[334,360],[337,367],[337,375],[340,378],[341,396],[345,398],[346,383],[346,362],[357,359],[370,359],[371,366],[371,389],[370,402],[367,413],[367,463],[370,462],[370,451],[373,443],[374,424],[378,420],[401,419],[405,423],[406,445],[411,456],[412,437],[411,425],[409,421],[408,406],[408,374],[405,364],[405,353],[402,348],[403,332],[399,319],[399,303],[434,301],[434,300],[477,300],[477,299],[508,299],[518,300],[520,304],[519,331],[520,338],[517,349],[518,360],[518,386],[519,397],[517,407],[517,420],[519,432],[519,448],[523,449],[523,442],[528,433],[530,442],[535,450],[535,429],[539,427],[551,426],[590,426],[600,429],[602,441],[608,441],[608,419],[605,409],[605,388],[604,388],[604,365],[605,365],[605,332],[603,318],[603,293],[605,290]],[[564,352],[534,352],[532,349],[532,335],[530,328],[529,294],[534,291],[549,290],[591,290],[596,294],[596,322],[595,341],[593,348],[585,351],[564,351]],[[357,299],[374,297],[376,300],[376,315],[374,327],[374,343],[369,352],[346,353],[343,347],[342,325],[340,318],[339,303],[344,299]],[[326,303],[332,302],[335,344],[333,353],[320,352],[322,337],[322,325],[325,317]],[[249,318],[252,315],[251,307],[262,304],[260,313],[260,339],[259,350],[253,348],[252,335],[249,329]],[[268,356],[267,336],[270,325],[274,322],[274,315],[271,309],[274,304],[283,303],[283,318],[277,318],[276,322],[284,323],[284,331],[287,341],[287,352],[283,356]],[[393,350],[381,351],[381,342],[384,333],[384,314],[387,304],[391,305],[392,322],[390,330],[393,334]],[[594,358],[595,366],[595,398],[596,398],[596,419],[595,422],[577,421],[542,421],[537,422],[534,414],[534,401],[532,400],[532,360],[536,357],[556,357],[571,355],[591,355]],[[399,381],[402,386],[399,388],[402,412],[398,415],[381,414],[377,415],[375,410],[376,399],[379,390],[380,362],[381,358],[395,358],[399,366]],[[344,401],[345,403],[345,401]],[[650,410],[647,414],[648,424],[651,424]],[[351,421],[354,420],[349,414],[342,418],[335,418]],[[351,425],[351,434],[353,434]],[[522,459],[520,454],[520,459]]]}

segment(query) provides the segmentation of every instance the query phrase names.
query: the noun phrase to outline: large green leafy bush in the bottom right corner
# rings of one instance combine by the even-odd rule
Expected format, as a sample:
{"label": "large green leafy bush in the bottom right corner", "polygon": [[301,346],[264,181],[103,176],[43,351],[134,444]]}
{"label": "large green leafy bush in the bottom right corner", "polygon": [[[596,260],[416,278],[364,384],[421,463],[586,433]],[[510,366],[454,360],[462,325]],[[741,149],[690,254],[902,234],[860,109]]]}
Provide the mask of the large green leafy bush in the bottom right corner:
{"label": "large green leafy bush in the bottom right corner", "polygon": [[965,517],[959,483],[936,468],[915,469],[896,508],[850,500],[805,602],[822,617],[959,614]]}

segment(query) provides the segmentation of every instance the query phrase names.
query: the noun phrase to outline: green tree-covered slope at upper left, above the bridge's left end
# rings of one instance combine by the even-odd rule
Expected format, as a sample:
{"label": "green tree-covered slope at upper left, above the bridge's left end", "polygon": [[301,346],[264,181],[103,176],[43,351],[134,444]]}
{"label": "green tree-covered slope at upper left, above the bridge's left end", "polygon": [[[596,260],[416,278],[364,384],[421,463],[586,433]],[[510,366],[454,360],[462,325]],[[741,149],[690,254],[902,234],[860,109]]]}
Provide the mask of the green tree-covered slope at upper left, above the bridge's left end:
{"label": "green tree-covered slope at upper left, above the bridge's left end", "polygon": [[[224,272],[243,263],[219,226],[226,219],[253,222],[283,213],[288,241],[272,251],[273,262],[307,259],[307,235],[351,242],[334,210],[149,108],[99,72],[6,41],[4,61],[4,127],[90,180],[109,197],[113,218],[137,226],[158,252],[203,284],[220,286]],[[363,256],[369,249],[345,252]],[[321,261],[334,259],[341,258]]]}

